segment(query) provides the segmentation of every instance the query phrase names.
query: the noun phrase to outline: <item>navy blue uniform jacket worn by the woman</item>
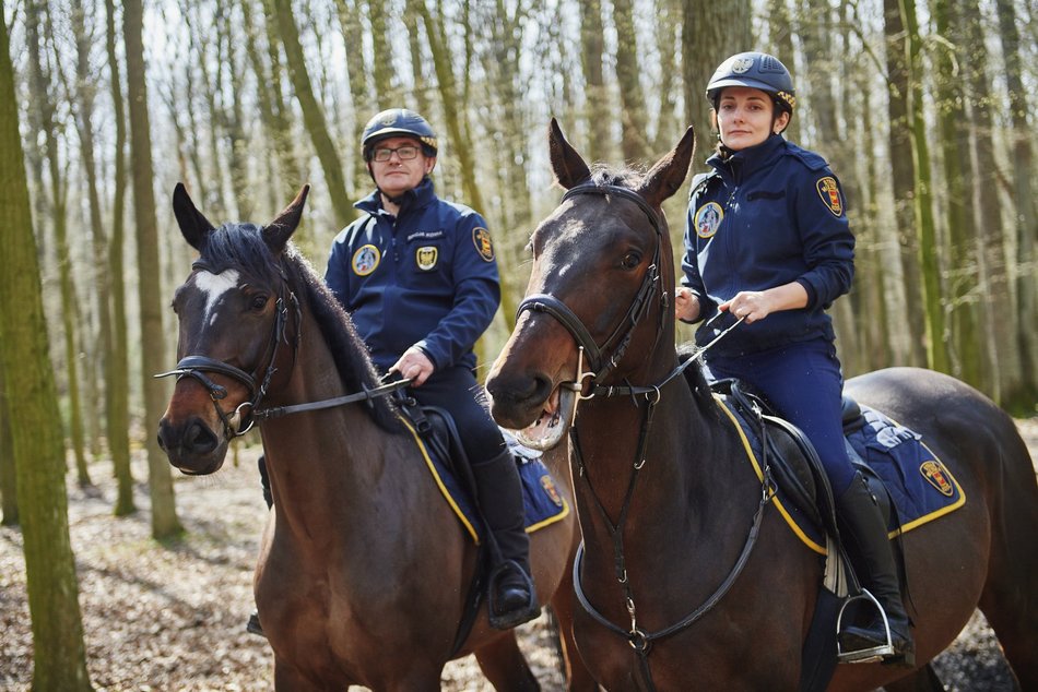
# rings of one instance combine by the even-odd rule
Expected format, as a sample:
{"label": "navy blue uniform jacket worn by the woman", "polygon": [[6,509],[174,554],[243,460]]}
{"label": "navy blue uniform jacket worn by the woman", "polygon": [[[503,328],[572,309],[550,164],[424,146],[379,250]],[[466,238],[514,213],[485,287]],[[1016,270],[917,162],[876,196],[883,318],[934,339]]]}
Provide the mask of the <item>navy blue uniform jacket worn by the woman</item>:
{"label": "navy blue uniform jacket worn by the woman", "polygon": [[[835,341],[825,310],[850,290],[854,237],[825,159],[772,135],[707,164],[713,170],[692,183],[682,259],[682,284],[698,297],[700,319],[716,315],[717,306],[741,290],[798,282],[807,291],[806,308],[744,323],[713,349],[738,356],[788,342]],[[716,334],[700,326],[696,342]]]}

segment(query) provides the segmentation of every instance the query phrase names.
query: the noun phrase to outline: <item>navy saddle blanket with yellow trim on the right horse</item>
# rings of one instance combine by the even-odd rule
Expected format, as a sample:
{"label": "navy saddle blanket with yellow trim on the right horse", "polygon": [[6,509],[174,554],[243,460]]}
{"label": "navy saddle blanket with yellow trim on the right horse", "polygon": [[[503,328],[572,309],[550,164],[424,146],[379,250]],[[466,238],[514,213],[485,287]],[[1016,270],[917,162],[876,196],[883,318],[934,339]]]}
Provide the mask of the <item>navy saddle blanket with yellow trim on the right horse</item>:
{"label": "navy saddle blanket with yellow trim on the right horse", "polygon": [[[746,458],[757,477],[763,478],[758,462],[762,450],[756,431],[726,402],[719,402],[728,417],[739,427]],[[896,509],[892,524],[887,527],[890,538],[954,512],[966,503],[962,486],[923,443],[919,433],[863,404],[861,413],[865,425],[849,433],[847,441],[875,472],[890,496]],[[781,488],[776,492],[775,504],[801,541],[815,552],[825,554],[825,536],[821,527],[815,526],[786,499]]]}

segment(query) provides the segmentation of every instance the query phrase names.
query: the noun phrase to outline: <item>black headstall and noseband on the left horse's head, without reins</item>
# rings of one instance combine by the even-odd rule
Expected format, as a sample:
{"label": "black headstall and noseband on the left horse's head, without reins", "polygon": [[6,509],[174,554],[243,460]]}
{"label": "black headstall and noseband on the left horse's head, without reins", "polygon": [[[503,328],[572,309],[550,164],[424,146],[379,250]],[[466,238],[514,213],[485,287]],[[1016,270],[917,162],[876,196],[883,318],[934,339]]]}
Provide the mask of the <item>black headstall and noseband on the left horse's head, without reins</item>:
{"label": "black headstall and noseband on the left horse's head, without reins", "polygon": [[[212,271],[201,261],[194,262],[191,269]],[[228,440],[245,434],[256,425],[257,416],[255,414],[263,401],[263,397],[267,396],[271,378],[273,378],[278,371],[278,368],[274,366],[278,360],[278,349],[282,343],[288,343],[285,337],[285,326],[288,322],[290,306],[292,306],[293,312],[295,313],[296,324],[302,324],[299,301],[294,293],[287,290],[284,284],[285,274],[283,269],[281,270],[281,274],[283,291],[278,296],[278,301],[274,307],[274,327],[271,331],[266,350],[266,353],[270,354],[270,358],[267,360],[267,367],[263,369],[262,377],[260,377],[260,368],[257,368],[250,374],[240,368],[236,368],[222,360],[216,360],[215,358],[210,358],[209,356],[185,356],[173,370],[154,375],[155,378],[176,375],[178,382],[182,378],[193,378],[197,380],[209,392],[213,407],[216,409],[216,415],[220,416],[220,420],[223,422],[224,436]],[[284,291],[287,291],[287,297],[285,297]],[[292,343],[293,358],[299,346],[299,332],[300,330],[296,329],[295,339]],[[260,362],[262,362],[262,360]],[[227,389],[213,382],[207,373],[222,374],[244,384],[249,392],[248,399],[239,404],[237,408],[228,414],[220,406],[220,401],[227,396]],[[245,420],[244,423],[243,419]]]}

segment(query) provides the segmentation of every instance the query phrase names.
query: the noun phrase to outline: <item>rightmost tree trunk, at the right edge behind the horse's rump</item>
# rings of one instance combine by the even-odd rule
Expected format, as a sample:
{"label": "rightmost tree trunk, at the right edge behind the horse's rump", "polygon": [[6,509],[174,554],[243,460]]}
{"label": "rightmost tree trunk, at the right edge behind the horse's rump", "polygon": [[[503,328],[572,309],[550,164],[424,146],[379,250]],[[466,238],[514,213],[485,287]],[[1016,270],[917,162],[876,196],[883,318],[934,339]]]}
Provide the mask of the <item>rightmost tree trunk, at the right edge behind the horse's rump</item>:
{"label": "rightmost tree trunk, at the right edge behind the horse's rump", "polygon": [[1038,399],[1038,187],[1035,184],[1034,129],[1027,120],[1030,111],[1024,87],[1021,35],[1016,10],[1011,0],[996,0],[999,36],[1005,61],[1005,82],[1010,94],[1010,157],[1013,171],[1013,208],[1016,222],[1016,326],[1021,354],[1018,390],[1010,393],[1015,402]]}

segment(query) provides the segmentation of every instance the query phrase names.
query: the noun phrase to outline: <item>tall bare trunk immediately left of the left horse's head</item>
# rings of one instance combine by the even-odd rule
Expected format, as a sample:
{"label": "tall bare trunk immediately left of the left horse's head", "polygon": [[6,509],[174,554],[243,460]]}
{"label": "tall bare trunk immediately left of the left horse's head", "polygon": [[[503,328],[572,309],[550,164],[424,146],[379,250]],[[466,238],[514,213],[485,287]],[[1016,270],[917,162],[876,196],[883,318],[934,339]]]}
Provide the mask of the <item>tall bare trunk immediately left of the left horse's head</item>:
{"label": "tall bare trunk immediately left of the left horse's head", "polygon": [[155,193],[152,189],[152,142],[148,119],[145,87],[143,7],[141,0],[123,3],[126,70],[130,102],[130,147],[132,151],[133,217],[137,224],[138,299],[141,317],[141,380],[144,392],[144,427],[148,450],[149,490],[152,499],[152,535],[169,538],[184,532],[177,520],[173,492],[173,474],[162,450],[151,433],[162,417],[167,401],[163,380],[152,375],[168,367],[166,336],[162,329],[162,286],[158,261],[158,224],[155,217]]}

